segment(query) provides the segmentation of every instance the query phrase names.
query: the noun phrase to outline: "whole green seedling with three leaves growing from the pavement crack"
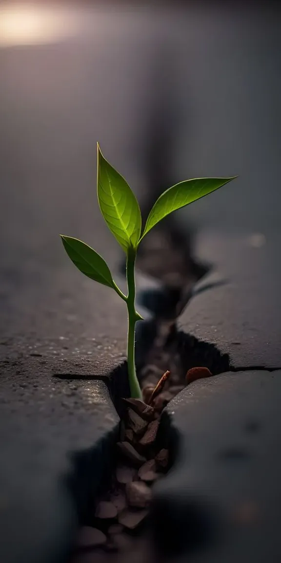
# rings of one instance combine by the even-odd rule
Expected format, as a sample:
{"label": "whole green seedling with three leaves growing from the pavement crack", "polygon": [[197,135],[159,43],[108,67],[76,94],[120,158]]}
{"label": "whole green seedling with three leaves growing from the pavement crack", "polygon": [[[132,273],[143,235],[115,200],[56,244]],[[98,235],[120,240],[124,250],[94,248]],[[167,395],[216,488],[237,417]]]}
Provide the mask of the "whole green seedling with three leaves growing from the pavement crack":
{"label": "whole green seedling with three leaves growing from the pavement crack", "polygon": [[105,260],[81,240],[61,235],[62,243],[72,262],[78,269],[103,285],[114,289],[125,301],[128,309],[128,377],[132,397],[142,398],[135,373],[135,323],[142,317],[135,310],[135,258],[144,236],[161,219],[172,211],[210,194],[227,184],[232,178],[196,178],[185,180],[164,191],[153,205],[142,231],[139,204],[126,180],[103,157],[97,145],[97,192],[103,218],[111,233],[126,253],[126,278],[128,294],[117,287]]}

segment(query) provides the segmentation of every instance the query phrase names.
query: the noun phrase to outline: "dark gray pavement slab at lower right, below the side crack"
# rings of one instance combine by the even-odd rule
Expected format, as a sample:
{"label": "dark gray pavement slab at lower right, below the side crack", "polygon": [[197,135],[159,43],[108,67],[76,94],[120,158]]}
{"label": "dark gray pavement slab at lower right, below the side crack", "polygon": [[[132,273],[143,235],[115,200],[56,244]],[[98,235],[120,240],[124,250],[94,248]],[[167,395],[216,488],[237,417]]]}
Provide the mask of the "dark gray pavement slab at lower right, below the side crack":
{"label": "dark gray pavement slab at lower right, below the side crack", "polygon": [[229,372],[170,402],[179,448],[153,522],[173,563],[280,560],[280,394],[280,370]]}

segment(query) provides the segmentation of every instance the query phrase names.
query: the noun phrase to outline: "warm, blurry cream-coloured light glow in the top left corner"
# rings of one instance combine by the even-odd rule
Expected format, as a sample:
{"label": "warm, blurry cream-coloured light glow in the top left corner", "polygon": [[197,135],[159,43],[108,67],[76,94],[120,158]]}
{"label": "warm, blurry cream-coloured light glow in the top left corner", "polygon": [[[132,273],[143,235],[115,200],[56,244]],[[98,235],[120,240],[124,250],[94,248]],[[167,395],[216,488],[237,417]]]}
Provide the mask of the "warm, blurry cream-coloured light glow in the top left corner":
{"label": "warm, blurry cream-coloured light glow in the top left corner", "polygon": [[75,14],[67,10],[28,4],[0,7],[0,46],[52,43],[72,35]]}

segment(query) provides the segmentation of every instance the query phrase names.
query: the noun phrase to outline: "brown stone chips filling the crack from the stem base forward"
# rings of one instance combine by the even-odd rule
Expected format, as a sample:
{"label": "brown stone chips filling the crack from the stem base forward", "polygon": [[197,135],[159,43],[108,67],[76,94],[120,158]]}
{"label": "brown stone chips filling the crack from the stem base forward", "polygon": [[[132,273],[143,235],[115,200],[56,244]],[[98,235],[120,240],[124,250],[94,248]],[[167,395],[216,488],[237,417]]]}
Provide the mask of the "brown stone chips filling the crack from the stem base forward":
{"label": "brown stone chips filling the crack from the stem base forward", "polygon": [[171,452],[163,447],[166,441],[158,432],[164,402],[157,399],[168,375],[147,403],[123,400],[116,467],[106,493],[93,507],[88,525],[80,528],[72,563],[156,560],[147,524],[152,485],[172,462]]}

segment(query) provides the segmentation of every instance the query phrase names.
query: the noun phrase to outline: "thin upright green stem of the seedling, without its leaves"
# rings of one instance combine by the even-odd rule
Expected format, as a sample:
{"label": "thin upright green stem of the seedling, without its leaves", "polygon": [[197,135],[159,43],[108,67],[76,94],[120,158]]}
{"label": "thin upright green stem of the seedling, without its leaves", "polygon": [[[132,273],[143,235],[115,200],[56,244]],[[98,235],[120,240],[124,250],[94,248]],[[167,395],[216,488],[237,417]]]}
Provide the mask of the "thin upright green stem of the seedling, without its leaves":
{"label": "thin upright green stem of the seedling, without its leaves", "polygon": [[128,377],[131,397],[142,399],[137,374],[135,373],[135,323],[138,320],[135,311],[135,250],[130,249],[127,255],[127,283],[128,297],[126,299],[128,307]]}

